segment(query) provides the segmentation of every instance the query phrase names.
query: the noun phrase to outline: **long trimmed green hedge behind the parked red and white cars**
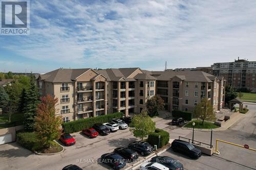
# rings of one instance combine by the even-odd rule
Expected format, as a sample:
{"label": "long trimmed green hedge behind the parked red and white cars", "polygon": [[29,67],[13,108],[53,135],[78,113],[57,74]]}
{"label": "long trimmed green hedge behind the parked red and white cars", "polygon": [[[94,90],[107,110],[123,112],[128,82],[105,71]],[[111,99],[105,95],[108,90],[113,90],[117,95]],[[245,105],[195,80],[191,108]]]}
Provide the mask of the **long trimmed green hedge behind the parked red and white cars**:
{"label": "long trimmed green hedge behind the parked red and white cars", "polygon": [[73,122],[63,123],[62,128],[64,133],[74,133],[79,132],[83,129],[91,128],[94,124],[99,123],[107,123],[111,122],[113,118],[121,118],[123,116],[122,112],[116,112],[112,114],[101,115],[97,117],[89,117],[74,120]]}

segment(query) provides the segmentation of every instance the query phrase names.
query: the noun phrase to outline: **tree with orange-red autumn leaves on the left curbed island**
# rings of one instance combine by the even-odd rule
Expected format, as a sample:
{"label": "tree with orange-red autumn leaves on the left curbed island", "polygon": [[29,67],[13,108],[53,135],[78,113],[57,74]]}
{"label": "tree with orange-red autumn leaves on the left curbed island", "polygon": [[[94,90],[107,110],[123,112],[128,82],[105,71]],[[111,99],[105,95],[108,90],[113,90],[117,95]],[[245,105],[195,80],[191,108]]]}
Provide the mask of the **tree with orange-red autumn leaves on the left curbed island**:
{"label": "tree with orange-red autumn leaves on the left curbed island", "polygon": [[55,106],[58,102],[57,98],[53,98],[50,94],[41,97],[41,103],[37,107],[37,115],[35,117],[35,133],[39,144],[42,148],[51,147],[54,139],[60,137],[61,116],[55,116],[57,110]]}

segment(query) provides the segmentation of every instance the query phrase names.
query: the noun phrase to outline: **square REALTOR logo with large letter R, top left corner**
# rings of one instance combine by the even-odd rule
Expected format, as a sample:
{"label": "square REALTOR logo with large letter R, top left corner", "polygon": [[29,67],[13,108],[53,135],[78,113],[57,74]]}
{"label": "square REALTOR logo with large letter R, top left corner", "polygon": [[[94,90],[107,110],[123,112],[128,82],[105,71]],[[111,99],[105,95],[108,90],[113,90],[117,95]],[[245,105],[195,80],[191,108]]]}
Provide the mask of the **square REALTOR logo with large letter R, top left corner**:
{"label": "square REALTOR logo with large letter R, top left corner", "polygon": [[1,0],[1,35],[29,35],[29,1]]}

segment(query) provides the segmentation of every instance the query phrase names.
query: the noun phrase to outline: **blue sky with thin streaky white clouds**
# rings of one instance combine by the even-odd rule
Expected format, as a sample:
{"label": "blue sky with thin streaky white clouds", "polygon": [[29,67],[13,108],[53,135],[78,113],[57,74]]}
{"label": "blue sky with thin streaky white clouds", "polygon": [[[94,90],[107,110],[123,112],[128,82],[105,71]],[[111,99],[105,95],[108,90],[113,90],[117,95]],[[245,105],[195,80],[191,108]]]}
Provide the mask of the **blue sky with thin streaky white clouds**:
{"label": "blue sky with thin streaky white clouds", "polygon": [[255,7],[255,0],[30,1],[30,35],[0,36],[0,71],[256,61]]}

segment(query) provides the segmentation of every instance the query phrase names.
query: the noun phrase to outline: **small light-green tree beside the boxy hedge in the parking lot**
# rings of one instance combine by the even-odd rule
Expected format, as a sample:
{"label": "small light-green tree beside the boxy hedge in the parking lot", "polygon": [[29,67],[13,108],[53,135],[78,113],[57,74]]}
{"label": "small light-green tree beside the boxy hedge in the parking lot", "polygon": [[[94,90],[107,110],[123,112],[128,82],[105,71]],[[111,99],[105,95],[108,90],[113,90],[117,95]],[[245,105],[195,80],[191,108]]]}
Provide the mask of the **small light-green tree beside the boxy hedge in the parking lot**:
{"label": "small light-green tree beside the boxy hedge in the parking lot", "polygon": [[131,127],[133,127],[130,129],[133,135],[143,140],[144,137],[155,131],[156,123],[147,115],[146,111],[142,110],[140,114],[133,117]]}

